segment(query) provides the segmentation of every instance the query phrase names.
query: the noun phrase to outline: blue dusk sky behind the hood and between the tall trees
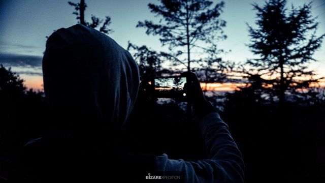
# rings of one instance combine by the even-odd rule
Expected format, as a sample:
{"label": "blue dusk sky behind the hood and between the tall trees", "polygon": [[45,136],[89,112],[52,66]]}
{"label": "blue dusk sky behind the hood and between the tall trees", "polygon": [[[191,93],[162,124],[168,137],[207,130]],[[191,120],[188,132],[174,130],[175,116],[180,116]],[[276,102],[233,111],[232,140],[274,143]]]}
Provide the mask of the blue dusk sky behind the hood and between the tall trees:
{"label": "blue dusk sky behind the hood and between the tall trees", "polygon": [[[78,0],[71,0],[77,3]],[[136,28],[137,22],[145,19],[156,20],[147,8],[148,3],[156,0],[85,0],[88,7],[86,19],[90,15],[112,18],[110,35],[117,43],[126,48],[127,41],[137,45],[147,45],[155,50],[162,48],[158,37],[147,36],[144,28]],[[220,2],[220,1],[215,1]],[[253,57],[245,44],[249,43],[246,23],[253,25],[256,11],[250,5],[253,2],[263,4],[261,0],[225,0],[225,8],[221,18],[227,22],[224,33],[228,39],[219,42],[219,48],[232,50],[222,54],[223,59],[244,62]],[[309,1],[291,0],[294,6]],[[0,0],[0,64],[11,66],[26,80],[28,87],[41,88],[41,59],[45,50],[46,36],[55,29],[69,27],[77,23],[74,8],[67,0]],[[314,0],[312,12],[320,22],[318,35],[325,33],[325,0]],[[319,62],[311,68],[325,76],[325,40],[314,58]],[[323,74],[324,73],[324,74]],[[33,83],[34,82],[34,83]]]}

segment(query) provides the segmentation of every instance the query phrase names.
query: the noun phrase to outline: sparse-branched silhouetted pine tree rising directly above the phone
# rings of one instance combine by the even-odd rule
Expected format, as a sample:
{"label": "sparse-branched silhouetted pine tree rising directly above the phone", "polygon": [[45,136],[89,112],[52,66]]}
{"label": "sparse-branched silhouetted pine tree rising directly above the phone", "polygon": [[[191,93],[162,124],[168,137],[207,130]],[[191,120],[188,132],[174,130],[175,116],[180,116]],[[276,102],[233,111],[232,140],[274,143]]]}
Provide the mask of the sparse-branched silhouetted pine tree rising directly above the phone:
{"label": "sparse-branched silhouetted pine tree rising directly above the phone", "polygon": [[[209,53],[216,55],[222,51],[217,49],[216,41],[226,38],[222,31],[226,22],[219,18],[223,2],[213,8],[213,3],[206,0],[161,0],[160,3],[148,5],[152,13],[161,17],[160,21],[140,21],[137,27],[147,28],[148,35],[160,36],[161,44],[168,45],[174,66],[182,65],[192,71],[191,63],[205,62]],[[194,52],[200,56],[190,57]]]}

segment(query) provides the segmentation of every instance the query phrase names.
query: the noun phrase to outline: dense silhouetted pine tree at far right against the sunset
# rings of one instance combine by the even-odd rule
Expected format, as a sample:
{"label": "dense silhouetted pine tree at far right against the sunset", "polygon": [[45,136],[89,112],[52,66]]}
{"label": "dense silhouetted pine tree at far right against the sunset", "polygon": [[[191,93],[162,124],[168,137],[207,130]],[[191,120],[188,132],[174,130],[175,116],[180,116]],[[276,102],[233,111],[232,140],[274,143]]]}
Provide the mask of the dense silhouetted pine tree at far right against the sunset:
{"label": "dense silhouetted pine tree at far right against the sunset", "polygon": [[285,6],[285,0],[270,0],[262,7],[253,4],[257,28],[248,25],[248,46],[259,56],[247,61],[255,71],[250,75],[264,78],[261,84],[269,87],[280,105],[285,102],[286,93],[301,96],[311,83],[318,81],[308,64],[316,61],[312,55],[325,36],[316,36],[318,22],[311,16],[311,3],[299,8]]}

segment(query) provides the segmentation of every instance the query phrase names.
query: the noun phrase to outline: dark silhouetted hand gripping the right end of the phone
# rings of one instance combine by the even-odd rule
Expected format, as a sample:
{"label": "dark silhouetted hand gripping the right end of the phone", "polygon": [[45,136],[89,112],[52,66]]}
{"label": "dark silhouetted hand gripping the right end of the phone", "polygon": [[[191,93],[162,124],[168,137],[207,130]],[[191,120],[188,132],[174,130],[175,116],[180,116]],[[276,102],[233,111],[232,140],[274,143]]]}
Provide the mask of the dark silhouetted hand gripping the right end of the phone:
{"label": "dark silhouetted hand gripping the right end of the phone", "polygon": [[193,110],[201,120],[210,112],[216,112],[210,102],[205,99],[198,77],[191,72],[181,73],[181,76],[187,77],[188,81],[184,85],[189,102],[193,103]]}

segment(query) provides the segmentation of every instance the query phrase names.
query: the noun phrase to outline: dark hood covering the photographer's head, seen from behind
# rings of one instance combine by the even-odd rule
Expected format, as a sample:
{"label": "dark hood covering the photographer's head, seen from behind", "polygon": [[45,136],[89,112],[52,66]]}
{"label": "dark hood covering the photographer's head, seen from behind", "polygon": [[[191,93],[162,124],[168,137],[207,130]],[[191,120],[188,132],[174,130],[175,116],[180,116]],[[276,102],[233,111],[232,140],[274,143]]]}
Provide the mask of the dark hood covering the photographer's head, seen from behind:
{"label": "dark hood covering the photographer's head, seen from behind", "polygon": [[43,80],[52,109],[120,127],[135,103],[139,70],[131,54],[112,38],[76,24],[48,38]]}

